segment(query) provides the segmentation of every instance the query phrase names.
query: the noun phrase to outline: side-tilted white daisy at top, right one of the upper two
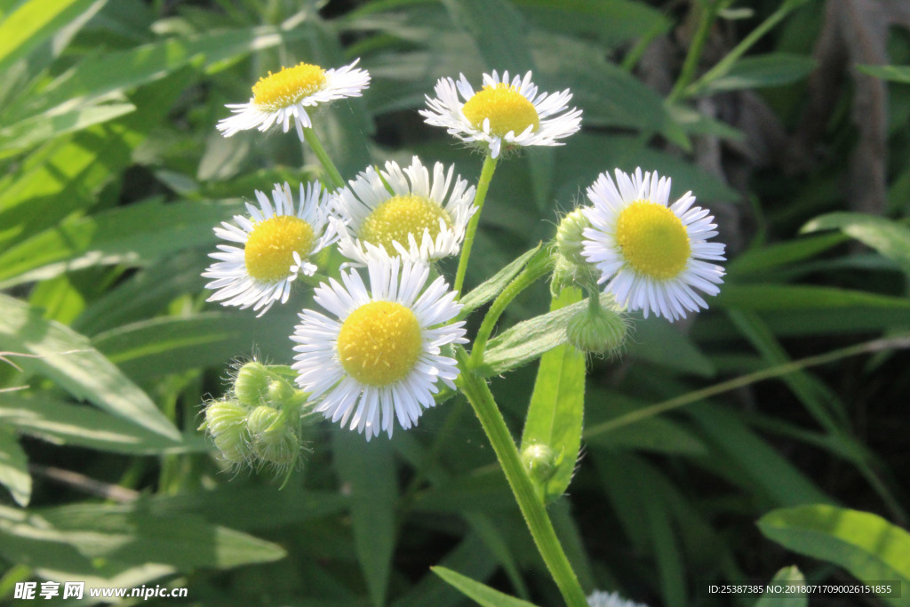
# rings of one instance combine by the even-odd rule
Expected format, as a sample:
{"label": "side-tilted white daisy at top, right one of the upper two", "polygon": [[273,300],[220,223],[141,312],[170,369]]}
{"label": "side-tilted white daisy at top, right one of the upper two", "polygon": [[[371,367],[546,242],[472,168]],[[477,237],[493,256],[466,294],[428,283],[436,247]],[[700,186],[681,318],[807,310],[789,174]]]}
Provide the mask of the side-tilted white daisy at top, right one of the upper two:
{"label": "side-tilted white daisy at top, right one of the upper two", "polygon": [[483,87],[476,93],[464,74],[458,82],[440,78],[434,92],[435,99],[427,96],[429,109],[420,110],[427,124],[442,126],[462,141],[488,147],[494,158],[503,148],[561,146],[558,139],[581,128],[581,110],[566,111],[569,89],[538,94],[531,72],[510,81],[508,71],[500,79],[494,70],[492,75],[483,75]]}

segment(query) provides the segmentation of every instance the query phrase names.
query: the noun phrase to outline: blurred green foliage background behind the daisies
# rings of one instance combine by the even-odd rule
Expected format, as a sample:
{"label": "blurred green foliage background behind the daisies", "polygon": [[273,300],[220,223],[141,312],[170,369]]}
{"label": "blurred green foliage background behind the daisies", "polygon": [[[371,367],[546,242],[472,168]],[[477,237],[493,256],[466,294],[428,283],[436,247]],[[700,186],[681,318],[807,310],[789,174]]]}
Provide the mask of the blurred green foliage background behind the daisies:
{"label": "blurred green foliage background behind the daisies", "polygon": [[[469,288],[614,167],[672,176],[719,220],[712,309],[639,319],[622,358],[590,362],[583,457],[550,506],[585,590],[752,604],[707,584],[794,564],[854,580],[828,561],[862,577],[786,536],[793,510],[767,517],[907,523],[908,29],[900,0],[0,0],[0,599],[86,580],[198,604],[468,604],[441,564],[560,603],[463,400],[394,440],[320,425],[282,491],[223,470],[196,430],[232,361],[288,362],[308,298],[255,323],[207,305],[212,227],[319,176],[296,137],[215,124],[268,70],[356,57],[372,86],[315,120],[348,178],[418,154],[476,180],[480,157],[417,114],[441,76],[532,69],[584,111],[566,146],[501,163]],[[546,286],[519,304],[511,322],[545,311]],[[515,436],[534,367],[493,379]],[[910,580],[889,563],[867,579]]]}

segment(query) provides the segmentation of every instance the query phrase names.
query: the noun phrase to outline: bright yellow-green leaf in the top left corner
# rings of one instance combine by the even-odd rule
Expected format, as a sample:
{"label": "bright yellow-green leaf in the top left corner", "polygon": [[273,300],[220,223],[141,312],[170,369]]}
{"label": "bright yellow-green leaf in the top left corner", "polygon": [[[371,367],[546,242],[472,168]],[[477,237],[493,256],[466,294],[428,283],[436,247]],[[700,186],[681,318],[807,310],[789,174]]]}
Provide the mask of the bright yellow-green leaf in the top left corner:
{"label": "bright yellow-green leaf in the top left corner", "polygon": [[0,21],[0,72],[40,46],[96,0],[31,0]]}

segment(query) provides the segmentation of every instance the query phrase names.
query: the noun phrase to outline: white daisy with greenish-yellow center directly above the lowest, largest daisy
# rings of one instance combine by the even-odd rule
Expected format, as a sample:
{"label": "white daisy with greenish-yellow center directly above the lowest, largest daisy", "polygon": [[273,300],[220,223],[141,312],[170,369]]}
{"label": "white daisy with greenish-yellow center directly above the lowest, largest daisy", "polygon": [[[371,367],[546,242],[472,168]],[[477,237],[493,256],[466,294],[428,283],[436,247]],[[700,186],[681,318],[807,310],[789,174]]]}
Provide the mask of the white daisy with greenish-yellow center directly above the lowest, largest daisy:
{"label": "white daisy with greenish-yellow center directly above the lowest, largest daisy", "polygon": [[389,161],[384,171],[360,173],[335,197],[335,213],[349,218],[348,229],[339,230],[341,254],[355,266],[367,265],[377,249],[423,262],[458,254],[477,207],[467,180],[455,177],[452,186],[453,171],[437,162],[430,178],[415,156],[403,170]]}

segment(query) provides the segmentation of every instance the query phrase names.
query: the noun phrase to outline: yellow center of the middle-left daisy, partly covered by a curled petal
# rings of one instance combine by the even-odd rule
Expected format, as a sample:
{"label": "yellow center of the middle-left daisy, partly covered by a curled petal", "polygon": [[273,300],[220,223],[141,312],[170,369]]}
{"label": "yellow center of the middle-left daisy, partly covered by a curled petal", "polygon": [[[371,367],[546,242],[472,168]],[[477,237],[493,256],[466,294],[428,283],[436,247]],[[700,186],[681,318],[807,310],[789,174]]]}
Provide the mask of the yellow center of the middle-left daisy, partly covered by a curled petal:
{"label": "yellow center of the middle-left daisy, partly covered by a curled petal", "polygon": [[294,251],[306,258],[313,248],[313,227],[293,215],[260,221],[247,238],[244,261],[250,277],[263,282],[287,278]]}

